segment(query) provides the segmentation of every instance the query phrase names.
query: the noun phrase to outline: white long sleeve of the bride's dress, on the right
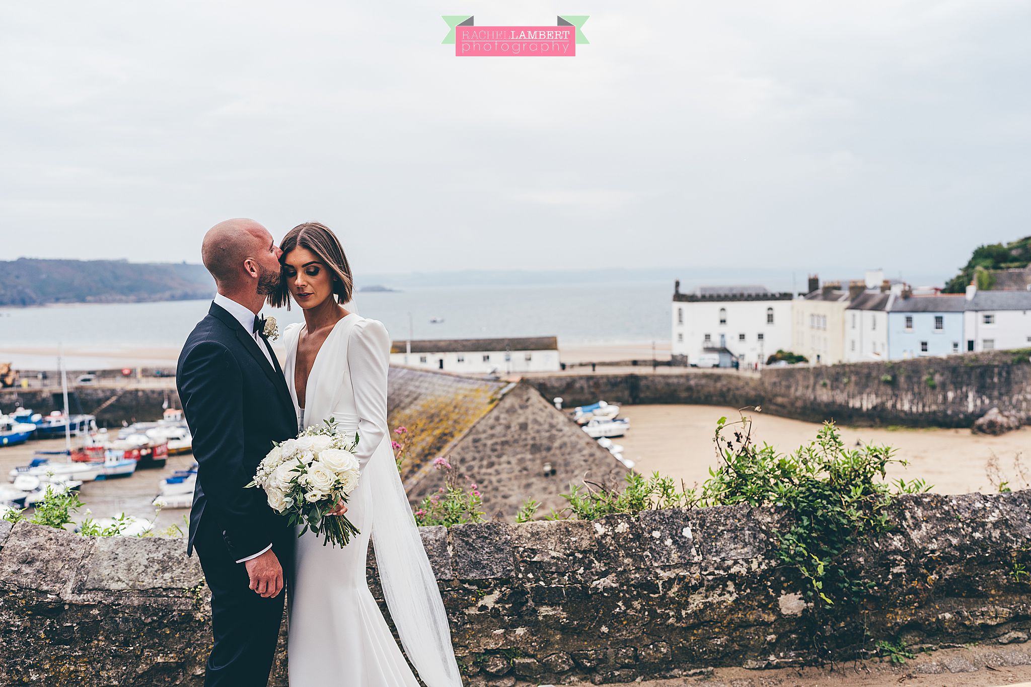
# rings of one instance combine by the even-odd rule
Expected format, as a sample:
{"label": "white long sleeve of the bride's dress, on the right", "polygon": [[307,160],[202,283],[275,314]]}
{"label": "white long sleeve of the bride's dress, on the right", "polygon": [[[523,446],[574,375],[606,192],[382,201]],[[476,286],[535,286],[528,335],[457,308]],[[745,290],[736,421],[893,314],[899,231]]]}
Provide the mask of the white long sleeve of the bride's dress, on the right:
{"label": "white long sleeve of the bride's dress, on the right", "polygon": [[390,336],[383,322],[363,319],[355,324],[347,343],[347,368],[358,412],[358,448],[361,470],[387,438],[387,371]]}

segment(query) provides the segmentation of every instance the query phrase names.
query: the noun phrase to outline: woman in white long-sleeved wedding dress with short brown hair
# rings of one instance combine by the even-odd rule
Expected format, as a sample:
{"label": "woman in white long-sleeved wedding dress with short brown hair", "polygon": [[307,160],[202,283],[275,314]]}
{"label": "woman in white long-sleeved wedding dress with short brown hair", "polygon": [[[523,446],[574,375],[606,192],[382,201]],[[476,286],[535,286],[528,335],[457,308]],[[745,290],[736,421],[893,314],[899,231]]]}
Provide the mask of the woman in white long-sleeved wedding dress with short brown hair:
{"label": "woman in white long-sleeved wedding dress with short brown hair", "polygon": [[383,323],[342,306],[351,267],[339,240],[315,222],[280,244],[282,279],[274,307],[304,310],[285,333],[284,375],[300,430],[334,418],[359,436],[358,488],[346,506],[360,535],[342,548],[310,533],[297,542],[290,588],[290,684],[309,687],[419,687],[365,579],[373,537],[384,596],[405,653],[428,687],[462,684],[451,630],[394,462],[387,427],[390,339]]}

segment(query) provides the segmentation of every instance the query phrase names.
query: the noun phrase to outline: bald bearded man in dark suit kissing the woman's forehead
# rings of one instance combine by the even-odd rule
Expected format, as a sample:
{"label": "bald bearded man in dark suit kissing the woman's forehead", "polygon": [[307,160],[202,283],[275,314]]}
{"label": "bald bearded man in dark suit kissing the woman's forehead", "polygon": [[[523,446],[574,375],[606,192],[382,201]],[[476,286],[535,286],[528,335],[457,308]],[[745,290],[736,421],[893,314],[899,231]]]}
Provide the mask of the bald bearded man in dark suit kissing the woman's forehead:
{"label": "bald bearded man in dark suit kissing the woman's forehead", "polygon": [[197,486],[187,554],[211,590],[207,687],[268,683],[295,537],[261,489],[244,489],[272,442],[297,435],[293,400],[258,312],[279,284],[280,250],[253,219],[204,236],[219,293],[179,354],[175,381],[193,435]]}

